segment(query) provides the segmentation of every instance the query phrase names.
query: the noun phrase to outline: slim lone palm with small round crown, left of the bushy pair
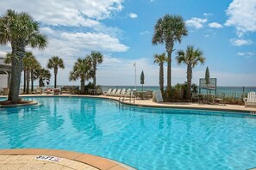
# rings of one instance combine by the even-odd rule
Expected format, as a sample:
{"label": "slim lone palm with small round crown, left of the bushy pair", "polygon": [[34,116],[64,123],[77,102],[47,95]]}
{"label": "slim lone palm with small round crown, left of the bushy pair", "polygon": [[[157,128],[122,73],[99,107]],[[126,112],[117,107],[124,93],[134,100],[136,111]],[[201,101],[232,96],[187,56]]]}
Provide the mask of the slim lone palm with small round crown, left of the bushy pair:
{"label": "slim lone palm with small round crown, left of the bushy pair", "polygon": [[54,88],[57,88],[58,69],[65,68],[62,58],[59,58],[58,56],[53,56],[52,58],[49,58],[47,68],[54,70]]}

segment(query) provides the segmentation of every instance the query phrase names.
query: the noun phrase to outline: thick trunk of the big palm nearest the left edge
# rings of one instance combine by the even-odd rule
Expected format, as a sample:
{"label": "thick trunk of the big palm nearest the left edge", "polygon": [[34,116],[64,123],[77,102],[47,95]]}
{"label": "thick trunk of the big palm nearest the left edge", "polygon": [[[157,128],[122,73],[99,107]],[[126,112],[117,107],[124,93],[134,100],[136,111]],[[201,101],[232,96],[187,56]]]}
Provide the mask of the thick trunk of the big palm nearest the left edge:
{"label": "thick trunk of the big palm nearest the left edge", "polygon": [[23,42],[14,41],[12,43],[12,49],[14,51],[14,58],[12,58],[11,80],[10,80],[10,93],[8,100],[12,103],[19,101],[21,73],[22,73],[22,58],[25,53],[25,46]]}

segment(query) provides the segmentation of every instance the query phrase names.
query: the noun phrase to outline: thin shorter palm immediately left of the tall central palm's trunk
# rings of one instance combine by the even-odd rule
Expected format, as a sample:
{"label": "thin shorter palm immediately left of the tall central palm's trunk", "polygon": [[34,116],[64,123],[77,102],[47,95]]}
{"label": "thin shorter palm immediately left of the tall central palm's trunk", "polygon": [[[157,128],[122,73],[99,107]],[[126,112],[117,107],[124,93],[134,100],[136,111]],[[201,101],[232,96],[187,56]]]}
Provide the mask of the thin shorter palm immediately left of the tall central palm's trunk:
{"label": "thin shorter palm immediately left of the tall central palm's trunk", "polygon": [[159,87],[161,93],[164,93],[164,63],[167,62],[167,58],[165,56],[165,52],[162,54],[154,54],[153,55],[153,63],[159,64]]}

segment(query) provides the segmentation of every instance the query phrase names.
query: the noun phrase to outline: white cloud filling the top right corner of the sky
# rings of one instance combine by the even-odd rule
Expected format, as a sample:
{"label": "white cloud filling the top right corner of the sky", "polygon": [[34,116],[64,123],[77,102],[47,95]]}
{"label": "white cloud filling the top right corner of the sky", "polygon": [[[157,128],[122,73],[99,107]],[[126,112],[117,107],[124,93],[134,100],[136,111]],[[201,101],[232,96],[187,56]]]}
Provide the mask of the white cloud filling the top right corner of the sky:
{"label": "white cloud filling the top right corner of the sky", "polygon": [[226,14],[228,20],[226,26],[236,28],[236,33],[240,37],[244,33],[256,32],[256,0],[233,0],[229,4]]}

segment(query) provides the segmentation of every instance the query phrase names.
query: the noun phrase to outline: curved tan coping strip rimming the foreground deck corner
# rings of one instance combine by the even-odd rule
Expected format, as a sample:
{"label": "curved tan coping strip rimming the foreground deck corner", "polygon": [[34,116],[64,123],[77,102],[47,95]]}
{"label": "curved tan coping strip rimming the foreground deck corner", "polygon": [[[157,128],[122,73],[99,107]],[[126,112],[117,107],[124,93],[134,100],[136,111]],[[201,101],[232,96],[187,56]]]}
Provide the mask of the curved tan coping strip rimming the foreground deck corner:
{"label": "curved tan coping strip rimming the foreground deck corner", "polygon": [[60,149],[0,149],[0,155],[48,155],[78,161],[101,170],[135,170],[119,161],[112,161],[97,155],[88,155]]}

